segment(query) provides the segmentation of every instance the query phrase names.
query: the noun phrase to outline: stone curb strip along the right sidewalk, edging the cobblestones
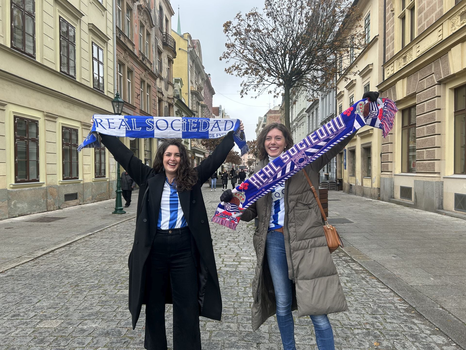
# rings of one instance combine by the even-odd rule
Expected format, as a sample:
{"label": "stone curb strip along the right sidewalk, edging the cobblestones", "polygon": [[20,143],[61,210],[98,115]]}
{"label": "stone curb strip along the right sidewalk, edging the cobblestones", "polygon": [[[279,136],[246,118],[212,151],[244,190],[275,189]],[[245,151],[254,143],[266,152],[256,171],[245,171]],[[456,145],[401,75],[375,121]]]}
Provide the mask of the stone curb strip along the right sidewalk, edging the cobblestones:
{"label": "stone curb strip along the right sidewalk, edging the cobblestones", "polygon": [[[346,242],[346,241],[345,241]],[[348,243],[343,252],[356,263],[363,266],[369,273],[377,277],[385,286],[399,295],[420,315],[438,327],[446,336],[450,337],[461,349],[466,349],[465,323],[442,308],[437,302],[419,292],[416,288],[404,282],[377,261],[368,258]],[[359,252],[360,254],[358,254]],[[367,259],[364,259],[367,258]]]}

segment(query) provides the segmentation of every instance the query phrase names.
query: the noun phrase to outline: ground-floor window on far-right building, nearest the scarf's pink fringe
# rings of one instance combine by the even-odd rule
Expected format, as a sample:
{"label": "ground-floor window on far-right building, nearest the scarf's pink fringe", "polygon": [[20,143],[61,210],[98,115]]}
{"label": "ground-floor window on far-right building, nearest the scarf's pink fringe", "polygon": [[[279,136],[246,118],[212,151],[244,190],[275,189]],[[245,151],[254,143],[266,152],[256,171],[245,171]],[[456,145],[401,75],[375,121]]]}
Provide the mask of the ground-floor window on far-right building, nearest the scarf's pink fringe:
{"label": "ground-floor window on far-right building, nearest the scarf's pink fringe", "polygon": [[401,172],[416,172],[416,106],[401,114]]}

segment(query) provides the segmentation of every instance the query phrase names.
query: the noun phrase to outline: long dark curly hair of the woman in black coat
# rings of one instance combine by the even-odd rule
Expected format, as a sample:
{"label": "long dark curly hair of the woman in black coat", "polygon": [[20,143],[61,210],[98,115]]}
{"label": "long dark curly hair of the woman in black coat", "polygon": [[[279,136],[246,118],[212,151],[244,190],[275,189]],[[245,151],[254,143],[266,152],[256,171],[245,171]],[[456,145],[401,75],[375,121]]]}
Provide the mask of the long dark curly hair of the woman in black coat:
{"label": "long dark curly hair of the woman in black coat", "polygon": [[168,146],[176,146],[179,149],[181,160],[178,165],[177,175],[175,176],[173,183],[176,189],[180,192],[190,191],[192,186],[198,182],[198,172],[192,167],[191,160],[188,158],[188,152],[186,151],[183,141],[178,139],[165,140],[157,149],[155,153],[154,165],[152,168],[156,173],[165,171],[164,169],[164,153]]}

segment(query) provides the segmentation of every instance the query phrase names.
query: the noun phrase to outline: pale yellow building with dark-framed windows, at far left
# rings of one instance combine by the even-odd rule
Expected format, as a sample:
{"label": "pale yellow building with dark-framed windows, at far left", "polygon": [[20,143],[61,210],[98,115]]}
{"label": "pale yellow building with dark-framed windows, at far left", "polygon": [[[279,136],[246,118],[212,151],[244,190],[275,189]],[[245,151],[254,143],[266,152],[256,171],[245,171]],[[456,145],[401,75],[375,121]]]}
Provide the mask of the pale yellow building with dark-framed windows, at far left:
{"label": "pale yellow building with dark-framed windows, at far left", "polygon": [[115,162],[76,147],[113,113],[112,1],[0,0],[0,219],[109,199]]}

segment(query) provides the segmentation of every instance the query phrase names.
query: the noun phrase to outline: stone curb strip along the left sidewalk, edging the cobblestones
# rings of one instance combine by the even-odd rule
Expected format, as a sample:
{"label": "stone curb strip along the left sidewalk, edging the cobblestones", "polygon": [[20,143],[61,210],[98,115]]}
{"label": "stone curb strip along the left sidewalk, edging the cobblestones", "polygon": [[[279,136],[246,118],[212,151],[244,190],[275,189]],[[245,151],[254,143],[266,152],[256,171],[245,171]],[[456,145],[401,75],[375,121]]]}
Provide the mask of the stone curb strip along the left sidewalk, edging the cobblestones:
{"label": "stone curb strip along the left sidewalk, edging the cobblestones", "polygon": [[49,245],[49,246],[46,246],[46,247],[43,247],[41,249],[38,249],[34,252],[30,252],[30,253],[27,253],[27,254],[24,254],[24,255],[21,255],[20,257],[18,258],[14,258],[14,259],[11,259],[7,262],[4,262],[2,264],[0,264],[0,273],[4,273],[5,271],[13,268],[13,267],[16,267],[16,266],[19,266],[19,265],[22,265],[24,263],[27,263],[28,261],[31,261],[31,260],[34,260],[36,258],[39,258],[43,255],[46,255],[48,254],[49,252],[53,252],[54,250],[57,250],[58,248],[62,248],[66,245],[69,245],[71,243],[74,243],[82,238],[85,238],[85,237],[88,237],[94,233],[97,233],[99,231],[103,231],[105,229],[108,229],[109,227],[112,227],[112,226],[115,226],[117,224],[121,224],[125,221],[128,221],[128,220],[131,220],[131,219],[134,219],[136,217],[136,214],[133,214],[131,215],[130,217],[125,217],[123,220],[120,220],[120,221],[117,221],[113,224],[103,224],[103,225],[100,225],[100,226],[96,226],[92,229],[89,229],[87,231],[83,231],[77,235],[75,235],[73,238],[68,238],[68,239],[64,239],[60,242],[57,242],[57,243],[54,243],[52,245]]}

